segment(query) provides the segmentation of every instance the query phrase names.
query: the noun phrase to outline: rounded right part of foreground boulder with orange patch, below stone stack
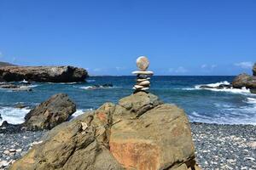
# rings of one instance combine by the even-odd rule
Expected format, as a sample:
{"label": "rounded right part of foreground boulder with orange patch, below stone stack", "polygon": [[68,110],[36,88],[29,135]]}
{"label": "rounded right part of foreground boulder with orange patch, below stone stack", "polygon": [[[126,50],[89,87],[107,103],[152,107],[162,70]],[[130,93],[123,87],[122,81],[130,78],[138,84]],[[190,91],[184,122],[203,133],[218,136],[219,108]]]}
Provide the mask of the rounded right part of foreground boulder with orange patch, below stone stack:
{"label": "rounded right part of foreground boulder with orange patch, below stone stack", "polygon": [[195,167],[189,120],[176,105],[138,92],[119,100],[113,122],[110,151],[125,169]]}

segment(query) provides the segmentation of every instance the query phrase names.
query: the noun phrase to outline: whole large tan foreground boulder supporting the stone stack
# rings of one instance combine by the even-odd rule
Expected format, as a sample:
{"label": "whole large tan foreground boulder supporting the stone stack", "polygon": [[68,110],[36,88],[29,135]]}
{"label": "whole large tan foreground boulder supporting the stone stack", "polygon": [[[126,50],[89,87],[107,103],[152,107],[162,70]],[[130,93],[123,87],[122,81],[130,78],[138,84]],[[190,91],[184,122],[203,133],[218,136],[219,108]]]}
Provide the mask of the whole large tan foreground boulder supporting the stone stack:
{"label": "whole large tan foreground boulder supporting the stone stack", "polygon": [[199,169],[189,120],[139,92],[53,128],[10,169]]}

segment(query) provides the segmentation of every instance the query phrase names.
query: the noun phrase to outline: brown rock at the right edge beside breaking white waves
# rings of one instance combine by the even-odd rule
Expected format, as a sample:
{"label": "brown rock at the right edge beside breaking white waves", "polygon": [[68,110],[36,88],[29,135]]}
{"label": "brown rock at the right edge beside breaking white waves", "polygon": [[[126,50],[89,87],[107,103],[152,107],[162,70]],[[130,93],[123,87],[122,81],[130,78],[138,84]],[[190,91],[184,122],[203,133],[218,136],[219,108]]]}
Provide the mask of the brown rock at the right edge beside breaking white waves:
{"label": "brown rock at the right edge beside breaking white waves", "polygon": [[245,73],[238,75],[232,82],[234,88],[256,88],[256,77],[252,77]]}

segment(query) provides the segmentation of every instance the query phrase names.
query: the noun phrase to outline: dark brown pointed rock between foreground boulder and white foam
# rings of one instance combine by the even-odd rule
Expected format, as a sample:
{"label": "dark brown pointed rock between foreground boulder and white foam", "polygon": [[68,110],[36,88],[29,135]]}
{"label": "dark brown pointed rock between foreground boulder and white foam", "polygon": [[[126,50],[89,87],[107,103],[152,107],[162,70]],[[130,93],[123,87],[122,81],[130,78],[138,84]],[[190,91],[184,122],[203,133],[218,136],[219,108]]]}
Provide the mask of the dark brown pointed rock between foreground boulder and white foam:
{"label": "dark brown pointed rock between foreground boulder and white foam", "polygon": [[67,94],[55,94],[25,116],[24,127],[29,130],[51,129],[76,111],[76,105]]}

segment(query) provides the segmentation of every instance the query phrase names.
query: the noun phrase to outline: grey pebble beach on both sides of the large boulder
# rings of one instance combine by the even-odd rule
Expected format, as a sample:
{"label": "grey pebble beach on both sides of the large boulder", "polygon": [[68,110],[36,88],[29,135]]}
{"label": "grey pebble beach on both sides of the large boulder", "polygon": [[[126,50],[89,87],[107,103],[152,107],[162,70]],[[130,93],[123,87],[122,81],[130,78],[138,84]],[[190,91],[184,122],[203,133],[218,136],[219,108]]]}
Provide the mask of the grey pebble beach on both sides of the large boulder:
{"label": "grey pebble beach on both sides of the large boulder", "polygon": [[[191,123],[196,159],[202,169],[256,169],[256,126]],[[46,131],[0,129],[0,169],[40,143]]]}

